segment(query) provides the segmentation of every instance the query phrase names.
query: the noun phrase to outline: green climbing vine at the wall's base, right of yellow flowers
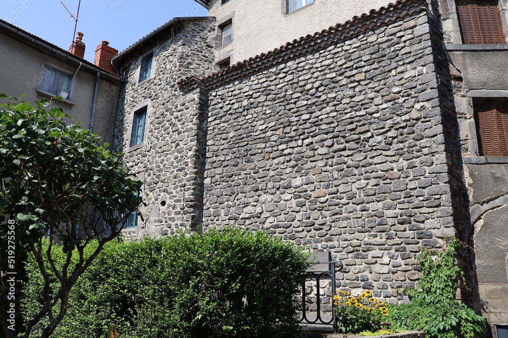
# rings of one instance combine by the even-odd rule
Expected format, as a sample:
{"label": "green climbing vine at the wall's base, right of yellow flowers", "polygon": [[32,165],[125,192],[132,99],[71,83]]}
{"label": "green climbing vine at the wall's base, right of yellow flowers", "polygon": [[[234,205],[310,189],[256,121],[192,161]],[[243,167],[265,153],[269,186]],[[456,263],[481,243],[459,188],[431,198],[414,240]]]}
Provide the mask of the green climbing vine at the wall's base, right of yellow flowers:
{"label": "green climbing vine at the wall's base, right of yellow flowers", "polygon": [[472,338],[482,332],[485,319],[455,299],[464,274],[455,265],[459,242],[454,237],[449,239],[442,250],[422,249],[419,289],[408,291],[409,304],[389,309],[394,327],[423,330],[429,338]]}

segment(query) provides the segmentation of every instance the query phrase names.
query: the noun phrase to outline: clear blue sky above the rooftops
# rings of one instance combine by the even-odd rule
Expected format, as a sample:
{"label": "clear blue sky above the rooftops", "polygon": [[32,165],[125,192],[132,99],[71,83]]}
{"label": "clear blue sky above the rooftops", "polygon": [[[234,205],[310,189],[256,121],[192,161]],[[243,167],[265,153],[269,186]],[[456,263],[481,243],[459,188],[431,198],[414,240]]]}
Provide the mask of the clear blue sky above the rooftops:
{"label": "clear blue sky above the rooftops", "polygon": [[[77,12],[79,0],[62,2]],[[207,14],[194,0],[81,0],[77,31],[93,62],[103,40],[122,51],[174,17]],[[66,50],[73,40],[75,22],[59,0],[2,0],[0,18]]]}

